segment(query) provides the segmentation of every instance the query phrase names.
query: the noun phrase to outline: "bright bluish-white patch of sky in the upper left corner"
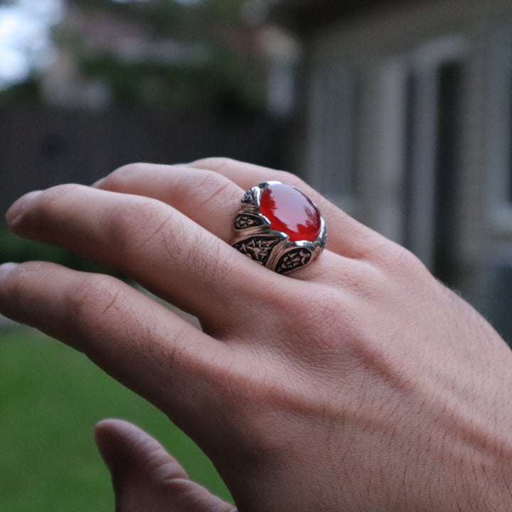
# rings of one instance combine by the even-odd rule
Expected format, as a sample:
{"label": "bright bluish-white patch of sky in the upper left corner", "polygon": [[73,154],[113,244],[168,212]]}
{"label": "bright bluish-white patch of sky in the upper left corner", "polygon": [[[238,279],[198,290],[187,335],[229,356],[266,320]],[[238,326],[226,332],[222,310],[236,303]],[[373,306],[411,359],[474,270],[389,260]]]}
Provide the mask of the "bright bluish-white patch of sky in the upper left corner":
{"label": "bright bluish-white patch of sky in the upper left corner", "polygon": [[[117,2],[146,0],[112,0]],[[201,0],[174,0],[197,4]],[[55,60],[52,26],[62,19],[65,0],[12,0],[0,3],[0,90],[26,80]]]}

